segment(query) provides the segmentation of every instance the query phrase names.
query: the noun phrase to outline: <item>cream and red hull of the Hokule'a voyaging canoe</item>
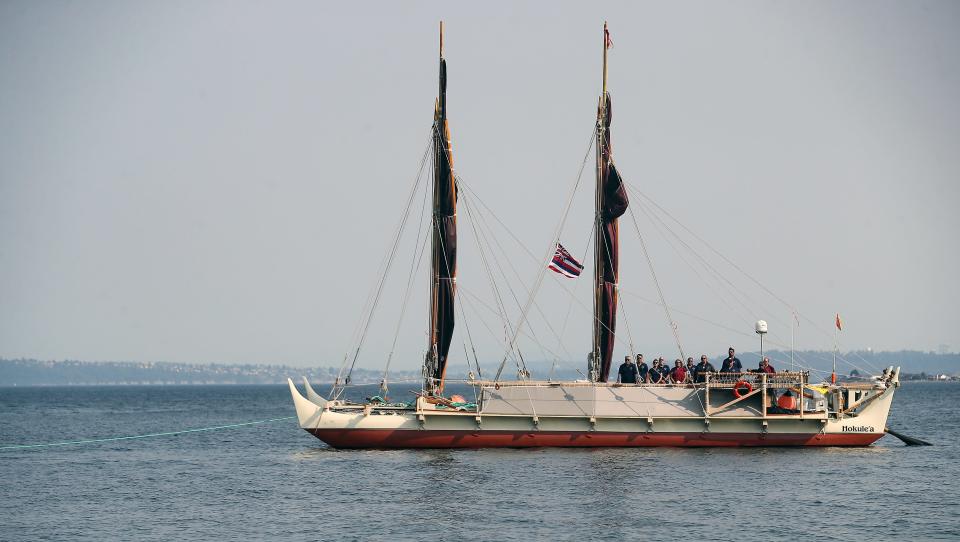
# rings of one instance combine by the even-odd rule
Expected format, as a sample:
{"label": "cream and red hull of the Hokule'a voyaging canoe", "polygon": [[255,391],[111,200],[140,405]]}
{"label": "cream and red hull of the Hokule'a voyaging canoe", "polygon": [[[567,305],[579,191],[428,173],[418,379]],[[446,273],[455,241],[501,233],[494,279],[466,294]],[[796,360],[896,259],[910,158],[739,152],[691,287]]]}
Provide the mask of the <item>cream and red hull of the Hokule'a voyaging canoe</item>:
{"label": "cream and red hull of the Hokule'a voyaging canoe", "polygon": [[690,387],[484,387],[483,408],[465,410],[422,398],[328,402],[309,383],[306,397],[289,385],[302,429],[335,448],[374,449],[869,446],[884,435],[896,387],[851,392],[863,406],[836,415],[769,413],[760,395],[730,404],[729,390]]}

